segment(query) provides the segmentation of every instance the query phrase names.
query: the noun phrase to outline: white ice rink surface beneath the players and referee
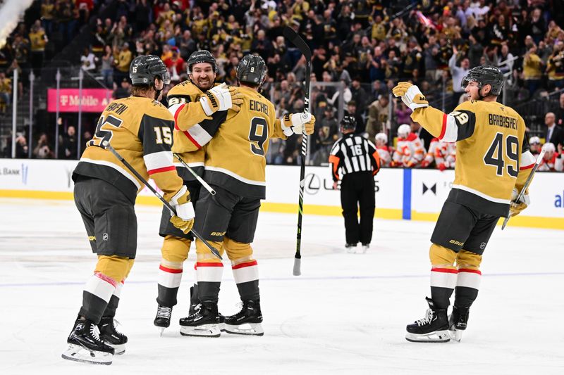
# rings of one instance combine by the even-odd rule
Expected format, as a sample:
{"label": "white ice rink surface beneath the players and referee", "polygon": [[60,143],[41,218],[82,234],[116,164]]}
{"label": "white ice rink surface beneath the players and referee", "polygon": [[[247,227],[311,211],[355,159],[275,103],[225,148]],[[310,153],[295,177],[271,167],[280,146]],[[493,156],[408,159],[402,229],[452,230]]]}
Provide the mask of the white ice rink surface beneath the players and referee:
{"label": "white ice rink surface beneath the players and referee", "polygon": [[[564,374],[564,231],[496,229],[462,343],[409,343],[405,325],[427,309],[434,223],[376,220],[369,252],[351,255],[342,218],[306,210],[294,277],[297,215],[262,212],[253,248],[264,336],[180,336],[192,282],[185,272],[159,337],[160,211],[137,207],[137,259],[116,317],[129,343],[100,367],[61,359],[95,264],[73,202],[0,199],[0,374]],[[232,314],[237,303],[225,267],[220,311]]]}

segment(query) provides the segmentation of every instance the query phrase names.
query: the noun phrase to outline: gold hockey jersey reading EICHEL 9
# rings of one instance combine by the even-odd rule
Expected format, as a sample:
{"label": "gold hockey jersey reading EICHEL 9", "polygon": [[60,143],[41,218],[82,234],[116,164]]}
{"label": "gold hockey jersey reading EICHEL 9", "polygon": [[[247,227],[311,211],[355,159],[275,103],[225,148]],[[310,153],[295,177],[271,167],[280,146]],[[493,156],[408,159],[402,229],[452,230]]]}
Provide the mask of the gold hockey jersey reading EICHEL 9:
{"label": "gold hockey jersey reading EICHEL 9", "polygon": [[239,112],[228,110],[223,125],[206,146],[205,180],[239,196],[265,198],[269,139],[286,139],[274,104],[254,89],[240,87]]}

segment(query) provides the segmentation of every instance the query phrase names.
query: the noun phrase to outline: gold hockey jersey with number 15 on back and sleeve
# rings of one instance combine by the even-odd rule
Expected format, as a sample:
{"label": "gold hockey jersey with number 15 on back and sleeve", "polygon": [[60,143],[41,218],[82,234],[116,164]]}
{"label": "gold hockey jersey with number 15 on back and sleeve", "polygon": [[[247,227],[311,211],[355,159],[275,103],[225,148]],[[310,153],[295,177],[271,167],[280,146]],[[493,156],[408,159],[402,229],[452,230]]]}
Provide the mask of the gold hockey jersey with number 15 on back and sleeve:
{"label": "gold hockey jersey with number 15 on back and sleeve", "polygon": [[183,184],[172,163],[173,127],[171,113],[158,101],[136,96],[112,101],[99,117],[73,180],[77,174],[103,179],[135,203],[143,184],[114,154],[101,147],[105,140],[142,177],[154,179],[166,201],[170,201]]}

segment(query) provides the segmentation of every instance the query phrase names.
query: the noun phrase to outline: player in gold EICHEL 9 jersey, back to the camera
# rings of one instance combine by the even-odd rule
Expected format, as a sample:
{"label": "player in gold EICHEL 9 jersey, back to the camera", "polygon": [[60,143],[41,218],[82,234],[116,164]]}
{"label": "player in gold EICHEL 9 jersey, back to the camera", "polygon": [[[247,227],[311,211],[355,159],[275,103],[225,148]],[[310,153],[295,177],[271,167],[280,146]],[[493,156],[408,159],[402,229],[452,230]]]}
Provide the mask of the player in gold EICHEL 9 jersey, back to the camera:
{"label": "player in gold EICHEL 9 jersey, back to the camera", "polygon": [[[260,200],[265,198],[265,166],[269,139],[312,134],[314,117],[309,113],[276,119],[274,105],[258,93],[266,77],[260,56],[247,55],[239,63],[237,78],[243,104],[238,113],[227,112],[225,123],[206,146],[205,181],[216,190],[212,196],[201,189],[196,203],[196,227],[220,253],[231,260],[233,278],[243,307],[225,317],[225,330],[261,336],[257,260],[250,243],[255,236]],[[220,336],[217,310],[223,264],[196,240],[200,309],[180,319],[185,336]]]}

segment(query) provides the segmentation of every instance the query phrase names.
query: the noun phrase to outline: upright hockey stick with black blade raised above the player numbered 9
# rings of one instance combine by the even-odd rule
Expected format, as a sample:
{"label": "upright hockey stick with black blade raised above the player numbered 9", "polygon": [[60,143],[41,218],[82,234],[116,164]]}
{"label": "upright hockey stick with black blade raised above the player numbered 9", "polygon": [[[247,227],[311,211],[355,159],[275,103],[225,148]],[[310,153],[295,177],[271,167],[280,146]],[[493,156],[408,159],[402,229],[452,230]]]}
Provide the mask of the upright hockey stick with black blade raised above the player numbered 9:
{"label": "upright hockey stick with black blade raised above the player numbered 9", "polygon": [[[304,112],[309,113],[309,75],[312,71],[312,51],[309,46],[292,28],[286,26],[283,31],[284,37],[294,44],[302,55],[305,57],[305,94],[304,94]],[[304,208],[304,186],[305,186],[305,157],[307,153],[307,134],[305,127],[302,129],[302,163],[300,163],[300,200],[298,202],[298,234],[296,235],[295,255],[294,255],[294,276],[302,274],[302,254],[300,248],[302,246],[302,215]]]}

